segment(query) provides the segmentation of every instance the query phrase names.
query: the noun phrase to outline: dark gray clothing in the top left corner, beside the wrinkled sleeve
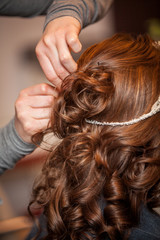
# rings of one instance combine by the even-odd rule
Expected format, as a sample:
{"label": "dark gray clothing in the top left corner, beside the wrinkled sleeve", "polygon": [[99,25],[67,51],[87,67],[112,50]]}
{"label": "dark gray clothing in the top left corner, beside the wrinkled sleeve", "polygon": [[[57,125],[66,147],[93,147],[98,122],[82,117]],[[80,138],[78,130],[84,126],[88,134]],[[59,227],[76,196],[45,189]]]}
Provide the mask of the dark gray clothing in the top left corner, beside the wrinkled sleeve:
{"label": "dark gray clothing in the top left corner, beside the wrinkled sleeve", "polygon": [[1,16],[34,17],[46,15],[53,0],[0,0]]}

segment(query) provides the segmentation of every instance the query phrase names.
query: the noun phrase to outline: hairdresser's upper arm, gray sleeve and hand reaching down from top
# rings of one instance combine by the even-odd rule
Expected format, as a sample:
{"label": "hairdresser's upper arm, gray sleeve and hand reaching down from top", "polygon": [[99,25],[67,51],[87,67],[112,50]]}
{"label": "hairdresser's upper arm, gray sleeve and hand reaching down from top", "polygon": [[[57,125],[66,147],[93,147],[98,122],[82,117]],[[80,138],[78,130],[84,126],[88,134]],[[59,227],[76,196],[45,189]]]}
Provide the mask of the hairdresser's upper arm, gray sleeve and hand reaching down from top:
{"label": "hairdresser's upper arm, gray sleeve and hand reaching down from top", "polygon": [[81,50],[79,33],[102,18],[113,0],[57,0],[48,9],[45,31],[36,54],[49,81],[59,86],[77,64],[71,56]]}

